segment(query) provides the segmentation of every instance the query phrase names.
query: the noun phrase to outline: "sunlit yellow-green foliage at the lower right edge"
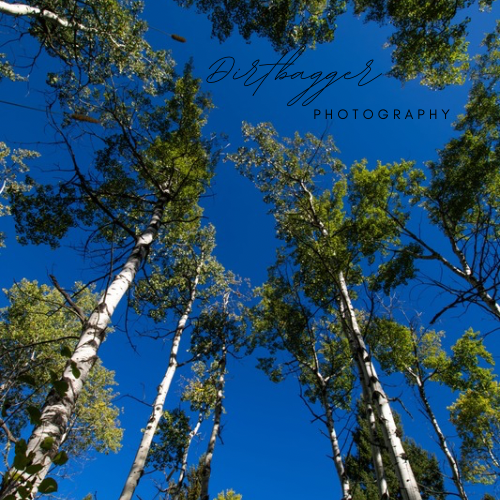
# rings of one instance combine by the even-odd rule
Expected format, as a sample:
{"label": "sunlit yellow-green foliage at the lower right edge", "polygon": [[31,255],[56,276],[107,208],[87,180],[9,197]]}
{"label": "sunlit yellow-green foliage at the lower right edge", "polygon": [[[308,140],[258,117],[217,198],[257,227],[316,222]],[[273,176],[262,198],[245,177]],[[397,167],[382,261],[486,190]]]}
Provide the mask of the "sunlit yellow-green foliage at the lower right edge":
{"label": "sunlit yellow-green foliage at the lower right edge", "polygon": [[388,319],[375,319],[367,332],[373,353],[388,372],[403,373],[410,385],[428,381],[457,394],[448,408],[460,438],[464,479],[491,484],[500,474],[496,456],[500,442],[500,386],[494,360],[479,333],[467,330],[447,353],[442,332],[417,335]]}

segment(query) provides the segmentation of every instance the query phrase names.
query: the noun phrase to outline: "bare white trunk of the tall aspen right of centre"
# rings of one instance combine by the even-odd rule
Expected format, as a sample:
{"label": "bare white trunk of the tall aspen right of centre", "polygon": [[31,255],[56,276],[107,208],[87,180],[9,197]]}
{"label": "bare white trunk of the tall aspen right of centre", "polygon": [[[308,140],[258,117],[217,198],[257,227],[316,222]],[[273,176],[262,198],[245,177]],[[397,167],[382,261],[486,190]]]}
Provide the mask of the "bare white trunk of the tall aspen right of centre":
{"label": "bare white trunk of the tall aspen right of centre", "polygon": [[371,356],[366,349],[342,272],[338,273],[338,285],[346,324],[346,333],[349,336],[353,356],[360,371],[359,378],[363,386],[363,393],[369,395],[369,401],[372,402],[377,410],[384,442],[389,452],[394,472],[398,478],[401,495],[404,500],[421,500],[417,481],[404,451],[401,439],[397,434],[397,427],[389,405],[389,399],[377,376]]}

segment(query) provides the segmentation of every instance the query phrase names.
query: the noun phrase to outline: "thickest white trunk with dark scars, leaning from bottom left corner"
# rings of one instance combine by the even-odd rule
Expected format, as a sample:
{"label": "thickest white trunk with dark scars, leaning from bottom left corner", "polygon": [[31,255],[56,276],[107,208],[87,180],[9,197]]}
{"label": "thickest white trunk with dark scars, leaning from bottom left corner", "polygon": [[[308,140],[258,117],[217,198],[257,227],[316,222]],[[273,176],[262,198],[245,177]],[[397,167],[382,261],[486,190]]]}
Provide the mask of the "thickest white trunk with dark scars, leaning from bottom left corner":
{"label": "thickest white trunk with dark scars, leaning from bottom left corner", "polygon": [[41,423],[33,430],[27,450],[27,455],[32,455],[31,465],[40,465],[42,469],[28,478],[22,470],[12,467],[4,476],[0,492],[1,500],[9,495],[13,495],[16,500],[21,500],[19,485],[31,491],[30,498],[36,494],[36,488],[32,485],[38,485],[43,480],[48,470],[47,465],[50,465],[59,451],[74,412],[76,400],[97,360],[97,352],[106,336],[106,328],[149,253],[151,244],[157,236],[167,201],[168,195],[166,194],[158,199],[148,226],[137,238],[123,269],[104,291],[98,305],[86,321],[80,341],[66,364],[62,378],[47,396],[42,409]]}

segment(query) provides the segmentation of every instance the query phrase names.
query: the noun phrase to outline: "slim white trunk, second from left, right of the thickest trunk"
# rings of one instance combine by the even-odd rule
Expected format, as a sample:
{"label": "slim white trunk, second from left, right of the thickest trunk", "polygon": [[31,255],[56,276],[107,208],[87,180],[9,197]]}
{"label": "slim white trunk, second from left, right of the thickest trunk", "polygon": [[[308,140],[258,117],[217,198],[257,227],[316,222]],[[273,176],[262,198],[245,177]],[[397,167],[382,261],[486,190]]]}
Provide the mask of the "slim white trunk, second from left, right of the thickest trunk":
{"label": "slim white trunk, second from left, right of the thickest trunk", "polygon": [[141,444],[137,449],[137,454],[135,455],[134,462],[132,463],[132,467],[128,474],[127,480],[125,481],[125,485],[123,486],[120,500],[130,500],[132,498],[132,495],[134,494],[134,491],[139,484],[139,480],[144,474],[144,468],[146,466],[146,459],[149,454],[149,449],[151,448],[153,437],[156,433],[156,429],[158,428],[161,416],[163,415],[163,406],[170,389],[170,384],[172,383],[175,371],[177,370],[177,353],[179,351],[182,333],[184,332],[187,320],[189,319],[189,315],[191,314],[191,311],[193,309],[193,303],[196,299],[196,288],[200,279],[201,266],[202,264],[200,263],[198,269],[196,270],[196,277],[191,285],[191,295],[189,297],[188,303],[186,304],[184,313],[177,323],[177,329],[175,331],[175,335],[172,341],[172,348],[170,350],[170,360],[168,363],[168,368],[165,372],[165,376],[163,377],[161,384],[158,386],[156,399],[153,403],[153,411],[151,412],[148,424],[146,425],[146,429],[144,430],[144,433],[142,435]]}

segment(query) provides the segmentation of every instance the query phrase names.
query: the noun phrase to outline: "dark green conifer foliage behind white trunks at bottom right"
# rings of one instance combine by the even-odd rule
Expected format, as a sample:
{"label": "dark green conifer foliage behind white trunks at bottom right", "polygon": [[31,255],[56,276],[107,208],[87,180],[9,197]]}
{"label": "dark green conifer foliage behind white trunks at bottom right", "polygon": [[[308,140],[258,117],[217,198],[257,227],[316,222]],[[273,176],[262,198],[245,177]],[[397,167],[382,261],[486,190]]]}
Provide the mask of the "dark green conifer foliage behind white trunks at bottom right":
{"label": "dark green conifer foliage behind white trunks at bottom right", "polygon": [[[371,438],[366,411],[358,405],[356,412],[357,429],[353,434],[355,452],[346,459],[346,470],[349,476],[353,500],[371,500],[378,498],[375,471],[372,464]],[[402,435],[399,416],[396,414],[399,433]],[[403,498],[399,492],[396,475],[391,468],[389,454],[384,449],[382,432],[378,429],[377,444],[382,447],[382,459],[385,466],[386,479],[391,498]],[[403,437],[403,446],[412,470],[415,474],[423,500],[444,500],[445,490],[443,476],[439,470],[438,460],[413,440]]]}

